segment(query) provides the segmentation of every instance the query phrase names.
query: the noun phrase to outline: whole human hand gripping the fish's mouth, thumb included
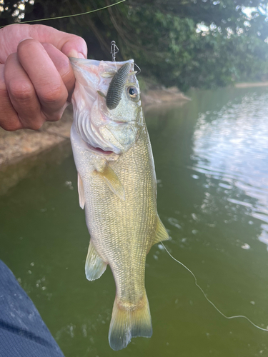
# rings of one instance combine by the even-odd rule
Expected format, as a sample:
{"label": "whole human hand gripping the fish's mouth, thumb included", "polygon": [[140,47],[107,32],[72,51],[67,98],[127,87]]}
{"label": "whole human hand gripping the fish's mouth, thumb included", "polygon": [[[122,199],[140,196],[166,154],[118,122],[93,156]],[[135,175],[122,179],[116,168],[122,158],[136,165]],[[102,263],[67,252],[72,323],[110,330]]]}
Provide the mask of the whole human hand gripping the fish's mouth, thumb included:
{"label": "whole human hand gripping the fish's mouth, thumb included", "polygon": [[75,83],[68,57],[86,54],[84,39],[49,26],[0,29],[0,126],[37,130],[61,119]]}

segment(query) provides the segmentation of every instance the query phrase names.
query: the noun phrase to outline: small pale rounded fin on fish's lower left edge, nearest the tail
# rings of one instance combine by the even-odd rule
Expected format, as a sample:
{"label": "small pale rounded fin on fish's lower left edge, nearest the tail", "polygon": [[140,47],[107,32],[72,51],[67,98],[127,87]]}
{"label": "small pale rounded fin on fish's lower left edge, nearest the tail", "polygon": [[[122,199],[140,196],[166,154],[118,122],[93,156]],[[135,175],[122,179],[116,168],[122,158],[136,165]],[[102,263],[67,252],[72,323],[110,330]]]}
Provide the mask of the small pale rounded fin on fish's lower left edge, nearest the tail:
{"label": "small pale rounded fin on fish's lower left edge, nearest the tail", "polygon": [[101,259],[93,243],[89,243],[89,251],[86,256],[86,278],[90,281],[96,280],[101,277],[101,275],[106,270],[107,264]]}

